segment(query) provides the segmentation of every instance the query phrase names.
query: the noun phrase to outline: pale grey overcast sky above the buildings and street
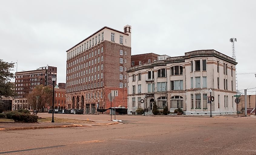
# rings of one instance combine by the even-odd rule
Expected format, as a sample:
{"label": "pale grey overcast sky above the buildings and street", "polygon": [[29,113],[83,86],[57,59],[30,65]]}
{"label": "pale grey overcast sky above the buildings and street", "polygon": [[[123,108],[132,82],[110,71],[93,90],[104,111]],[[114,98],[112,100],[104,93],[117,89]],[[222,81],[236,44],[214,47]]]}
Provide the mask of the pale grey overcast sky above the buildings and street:
{"label": "pale grey overcast sky above the buildings and street", "polygon": [[231,57],[229,39],[237,38],[238,89],[254,88],[254,74],[241,73],[256,72],[255,6],[254,0],[2,1],[0,59],[18,60],[18,71],[56,66],[57,82],[65,83],[67,49],[104,26],[123,31],[129,24],[132,55],[215,49]]}

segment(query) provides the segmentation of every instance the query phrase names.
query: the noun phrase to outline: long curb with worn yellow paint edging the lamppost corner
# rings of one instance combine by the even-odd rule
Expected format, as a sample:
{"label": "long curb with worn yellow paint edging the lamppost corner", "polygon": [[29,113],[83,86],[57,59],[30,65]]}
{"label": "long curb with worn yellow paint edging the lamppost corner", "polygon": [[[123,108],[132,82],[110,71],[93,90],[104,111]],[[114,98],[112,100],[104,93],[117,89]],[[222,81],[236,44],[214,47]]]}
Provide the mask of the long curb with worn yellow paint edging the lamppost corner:
{"label": "long curb with worn yellow paint edging the lamppost corner", "polygon": [[71,124],[71,125],[52,125],[52,126],[35,126],[35,127],[13,127],[13,128],[0,128],[0,131],[8,130],[28,130],[28,129],[46,129],[46,128],[70,128],[70,127],[86,127],[86,126],[98,126],[98,125],[115,125],[118,122],[106,123],[106,124],[95,124],[95,125],[80,125],[80,124]]}

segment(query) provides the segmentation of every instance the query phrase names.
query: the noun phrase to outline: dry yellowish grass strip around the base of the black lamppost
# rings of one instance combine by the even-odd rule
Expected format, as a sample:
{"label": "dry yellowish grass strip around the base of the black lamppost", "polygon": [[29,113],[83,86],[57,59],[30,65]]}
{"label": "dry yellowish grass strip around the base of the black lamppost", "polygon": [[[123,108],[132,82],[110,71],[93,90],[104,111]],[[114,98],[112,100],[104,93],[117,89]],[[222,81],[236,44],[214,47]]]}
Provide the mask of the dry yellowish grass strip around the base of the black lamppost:
{"label": "dry yellowish grass strip around the base of the black lamppost", "polygon": [[[41,122],[52,122],[52,117],[39,118],[38,121]],[[65,118],[54,118],[55,123],[93,123],[91,121],[79,120],[79,119],[65,119]]]}

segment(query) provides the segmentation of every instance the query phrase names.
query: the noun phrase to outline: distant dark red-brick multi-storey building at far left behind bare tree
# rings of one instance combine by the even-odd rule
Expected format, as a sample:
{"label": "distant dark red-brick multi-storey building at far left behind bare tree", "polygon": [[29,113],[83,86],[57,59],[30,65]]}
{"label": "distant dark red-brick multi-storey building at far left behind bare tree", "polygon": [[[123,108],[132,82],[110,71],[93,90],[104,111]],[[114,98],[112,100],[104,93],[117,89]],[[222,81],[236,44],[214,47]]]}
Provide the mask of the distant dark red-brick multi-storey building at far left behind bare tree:
{"label": "distant dark red-brick multi-storey building at far left behind bare tree", "polygon": [[[15,73],[15,102],[13,109],[30,108],[27,106],[27,96],[37,85],[53,85],[52,75],[57,77],[57,67],[45,66],[32,71]],[[55,81],[56,83],[56,81]]]}

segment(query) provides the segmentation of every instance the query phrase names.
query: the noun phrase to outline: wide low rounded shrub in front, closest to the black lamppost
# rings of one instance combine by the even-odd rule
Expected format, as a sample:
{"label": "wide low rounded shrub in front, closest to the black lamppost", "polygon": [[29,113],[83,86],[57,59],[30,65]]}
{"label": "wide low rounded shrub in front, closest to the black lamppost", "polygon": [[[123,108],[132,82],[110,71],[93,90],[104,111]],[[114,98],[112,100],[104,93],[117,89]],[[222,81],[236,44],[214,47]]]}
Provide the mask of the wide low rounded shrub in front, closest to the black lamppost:
{"label": "wide low rounded shrub in front, closest to the black lamppost", "polygon": [[26,123],[35,123],[38,120],[38,116],[24,113],[16,113],[12,115],[14,122],[26,122]]}

